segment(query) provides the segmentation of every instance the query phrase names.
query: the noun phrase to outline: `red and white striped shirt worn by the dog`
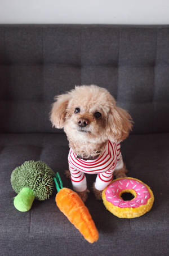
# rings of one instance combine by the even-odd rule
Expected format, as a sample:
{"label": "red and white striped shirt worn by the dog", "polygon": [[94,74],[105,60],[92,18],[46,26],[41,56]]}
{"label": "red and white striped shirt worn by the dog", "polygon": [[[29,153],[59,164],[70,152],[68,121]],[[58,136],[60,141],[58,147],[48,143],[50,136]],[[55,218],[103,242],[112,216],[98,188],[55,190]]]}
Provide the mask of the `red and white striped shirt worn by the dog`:
{"label": "red and white striped shirt worn by the dog", "polygon": [[120,143],[108,140],[104,152],[95,160],[79,159],[72,148],[70,148],[68,162],[72,185],[75,191],[87,189],[84,173],[97,174],[95,187],[97,190],[103,190],[112,181],[114,169],[123,167],[121,146]]}

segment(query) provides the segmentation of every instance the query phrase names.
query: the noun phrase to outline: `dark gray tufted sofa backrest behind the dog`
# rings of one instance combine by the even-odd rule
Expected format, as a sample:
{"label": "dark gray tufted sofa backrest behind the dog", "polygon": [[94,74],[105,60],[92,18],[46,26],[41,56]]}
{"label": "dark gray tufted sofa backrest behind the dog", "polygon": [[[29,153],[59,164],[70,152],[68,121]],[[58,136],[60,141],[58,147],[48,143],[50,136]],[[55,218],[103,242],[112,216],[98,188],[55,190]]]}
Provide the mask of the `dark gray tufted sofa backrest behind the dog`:
{"label": "dark gray tufted sofa backrest behind the dog", "polygon": [[0,26],[1,133],[58,132],[54,96],[80,84],[107,88],[133,133],[169,131],[169,26]]}

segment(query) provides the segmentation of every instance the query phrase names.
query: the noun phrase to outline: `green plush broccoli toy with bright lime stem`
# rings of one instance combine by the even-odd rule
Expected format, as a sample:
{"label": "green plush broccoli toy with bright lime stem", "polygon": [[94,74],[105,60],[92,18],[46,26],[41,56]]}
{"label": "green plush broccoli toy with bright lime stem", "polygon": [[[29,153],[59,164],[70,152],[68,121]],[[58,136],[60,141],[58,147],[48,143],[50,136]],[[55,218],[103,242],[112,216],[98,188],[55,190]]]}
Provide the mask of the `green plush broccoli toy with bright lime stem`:
{"label": "green plush broccoli toy with bright lime stem", "polygon": [[11,174],[11,185],[18,194],[14,206],[21,212],[29,211],[34,199],[45,200],[54,189],[55,173],[42,161],[25,161]]}

